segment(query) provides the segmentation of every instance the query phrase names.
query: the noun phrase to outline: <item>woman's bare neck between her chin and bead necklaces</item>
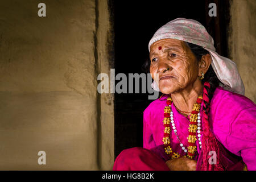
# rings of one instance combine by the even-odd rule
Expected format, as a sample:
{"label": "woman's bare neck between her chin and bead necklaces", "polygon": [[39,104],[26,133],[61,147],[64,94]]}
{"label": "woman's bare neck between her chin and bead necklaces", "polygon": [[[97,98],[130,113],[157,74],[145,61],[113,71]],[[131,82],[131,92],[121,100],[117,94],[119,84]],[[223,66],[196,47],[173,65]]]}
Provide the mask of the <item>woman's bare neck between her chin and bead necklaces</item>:
{"label": "woman's bare neck between her chin and bead necklaces", "polygon": [[191,113],[197,98],[202,93],[203,84],[201,84],[200,80],[196,80],[192,85],[188,85],[185,89],[172,93],[171,97],[177,110],[180,110],[179,112],[187,117],[187,115]]}

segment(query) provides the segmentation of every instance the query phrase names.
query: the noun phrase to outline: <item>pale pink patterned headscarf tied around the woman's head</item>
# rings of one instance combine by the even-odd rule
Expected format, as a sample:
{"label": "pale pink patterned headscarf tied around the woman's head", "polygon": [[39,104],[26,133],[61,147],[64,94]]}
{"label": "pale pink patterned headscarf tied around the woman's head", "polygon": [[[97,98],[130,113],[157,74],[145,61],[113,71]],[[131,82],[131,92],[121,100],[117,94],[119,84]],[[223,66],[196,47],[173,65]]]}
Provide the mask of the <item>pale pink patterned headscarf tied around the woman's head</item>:
{"label": "pale pink patterned headscarf tied around the woman's head", "polygon": [[[218,79],[224,84],[224,88],[239,94],[245,94],[245,87],[238,73],[236,63],[232,60],[218,55],[214,48],[213,38],[208,34],[205,27],[193,19],[177,18],[160,27],[148,44],[161,39],[177,39],[196,44],[209,51],[212,57],[212,68]],[[155,82],[152,88],[159,91]]]}

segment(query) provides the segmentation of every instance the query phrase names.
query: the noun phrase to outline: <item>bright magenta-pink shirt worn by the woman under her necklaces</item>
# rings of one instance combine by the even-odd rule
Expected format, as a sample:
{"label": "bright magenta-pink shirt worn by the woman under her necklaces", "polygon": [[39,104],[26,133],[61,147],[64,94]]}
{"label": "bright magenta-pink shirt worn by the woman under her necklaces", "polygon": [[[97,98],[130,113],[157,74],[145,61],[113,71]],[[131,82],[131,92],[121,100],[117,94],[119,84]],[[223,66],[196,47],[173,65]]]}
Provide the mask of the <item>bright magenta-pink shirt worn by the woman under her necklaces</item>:
{"label": "bright magenta-pink shirt worn by the woman under her necklaces", "polygon": [[[168,156],[163,149],[163,118],[166,98],[162,97],[151,102],[144,110],[143,116],[143,147],[154,151],[164,160]],[[177,112],[172,104],[174,122],[179,139],[187,148],[189,119]],[[202,114],[202,108],[200,110]],[[243,163],[248,170],[256,170],[256,105],[249,98],[224,90],[221,86],[216,88],[210,101],[210,128],[222,144],[221,163],[228,170],[240,170]],[[202,123],[202,122],[201,122]],[[204,126],[202,126],[204,129]],[[174,131],[171,132],[172,151],[184,155]],[[199,140],[196,140],[197,170],[200,170],[202,153]],[[243,162],[243,163],[242,163]]]}

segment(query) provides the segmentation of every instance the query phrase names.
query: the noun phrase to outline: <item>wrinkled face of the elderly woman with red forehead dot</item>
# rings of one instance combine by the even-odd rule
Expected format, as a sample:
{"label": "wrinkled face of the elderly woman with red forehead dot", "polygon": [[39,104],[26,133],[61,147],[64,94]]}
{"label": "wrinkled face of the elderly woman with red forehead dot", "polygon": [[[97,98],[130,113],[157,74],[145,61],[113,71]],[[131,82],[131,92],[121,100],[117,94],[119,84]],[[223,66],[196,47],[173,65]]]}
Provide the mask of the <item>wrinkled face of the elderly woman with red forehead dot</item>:
{"label": "wrinkled face of the elderly woman with red forehead dot", "polygon": [[[150,73],[164,94],[179,92],[192,85],[199,75],[199,63],[187,44],[162,39],[150,47]],[[159,73],[158,78],[154,73]]]}

